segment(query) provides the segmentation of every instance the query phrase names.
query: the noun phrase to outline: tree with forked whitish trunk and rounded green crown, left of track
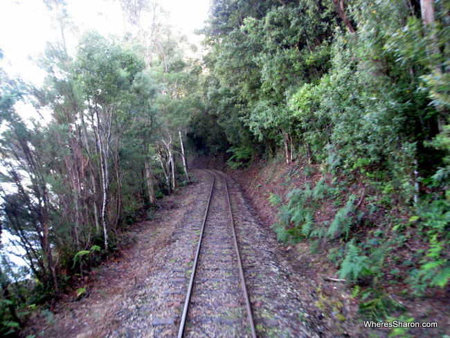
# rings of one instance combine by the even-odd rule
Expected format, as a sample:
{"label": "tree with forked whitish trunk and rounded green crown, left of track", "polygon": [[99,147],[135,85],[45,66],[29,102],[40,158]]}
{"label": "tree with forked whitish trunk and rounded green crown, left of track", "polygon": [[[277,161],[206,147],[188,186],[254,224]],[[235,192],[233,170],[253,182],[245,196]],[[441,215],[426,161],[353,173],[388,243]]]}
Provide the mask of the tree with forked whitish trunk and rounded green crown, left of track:
{"label": "tree with forked whitish trunk and rounded green crown, left of track", "polygon": [[[134,52],[109,42],[98,33],[84,35],[78,47],[76,72],[87,101],[87,119],[98,156],[96,176],[100,181],[101,211],[105,249],[108,232],[116,229],[120,217],[120,146],[132,115],[132,84],[145,64]],[[111,196],[115,176],[116,191]],[[114,208],[109,208],[114,202]],[[108,212],[109,211],[109,212]]]}

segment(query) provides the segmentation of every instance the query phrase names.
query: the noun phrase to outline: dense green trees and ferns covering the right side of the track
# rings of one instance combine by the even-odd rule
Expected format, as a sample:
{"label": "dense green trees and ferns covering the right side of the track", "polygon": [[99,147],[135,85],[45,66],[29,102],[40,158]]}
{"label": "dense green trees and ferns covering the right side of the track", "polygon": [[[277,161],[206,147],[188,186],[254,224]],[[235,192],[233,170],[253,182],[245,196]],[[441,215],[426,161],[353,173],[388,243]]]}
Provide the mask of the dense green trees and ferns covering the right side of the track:
{"label": "dense green trees and ferns covering the right side of the track", "polygon": [[[316,186],[271,197],[274,229],[285,242],[335,243],[330,257],[349,282],[376,288],[393,267],[386,256],[418,241],[426,249],[402,266],[412,293],[449,284],[449,10],[427,0],[213,1],[202,119],[225,132],[233,168],[278,150],[321,168]],[[322,222],[324,204],[335,215]]]}

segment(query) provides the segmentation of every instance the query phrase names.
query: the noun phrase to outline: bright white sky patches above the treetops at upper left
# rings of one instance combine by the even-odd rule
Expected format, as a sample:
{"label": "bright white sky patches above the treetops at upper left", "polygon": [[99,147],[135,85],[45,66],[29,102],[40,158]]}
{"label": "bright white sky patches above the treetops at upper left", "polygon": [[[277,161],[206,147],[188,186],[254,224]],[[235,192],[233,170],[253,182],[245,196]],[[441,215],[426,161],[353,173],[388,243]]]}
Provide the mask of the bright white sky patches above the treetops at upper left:
{"label": "bright white sky patches above the treetops at upper left", "polygon": [[[159,0],[170,24],[191,37],[204,26],[210,0]],[[94,28],[102,35],[121,35],[123,17],[116,0],[66,0],[68,12],[80,30]],[[58,36],[43,0],[0,0],[0,48],[3,68],[11,75],[40,84],[44,71],[35,66],[47,41]],[[199,41],[192,37],[192,42]]]}

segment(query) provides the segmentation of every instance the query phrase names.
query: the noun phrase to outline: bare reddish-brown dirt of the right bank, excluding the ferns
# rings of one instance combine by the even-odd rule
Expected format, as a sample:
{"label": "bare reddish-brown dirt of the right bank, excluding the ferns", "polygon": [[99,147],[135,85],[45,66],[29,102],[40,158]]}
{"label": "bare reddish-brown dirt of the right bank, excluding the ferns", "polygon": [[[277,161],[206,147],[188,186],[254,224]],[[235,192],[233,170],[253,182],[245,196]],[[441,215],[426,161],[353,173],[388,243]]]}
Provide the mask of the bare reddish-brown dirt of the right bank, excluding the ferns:
{"label": "bare reddish-brown dirt of the right bank, excluding the ferns", "polygon": [[[227,168],[224,157],[199,158],[197,166],[218,168],[233,177],[241,186],[244,196],[249,201],[257,217],[267,229],[278,220],[278,206],[273,206],[270,202],[272,194],[282,197],[287,202],[286,195],[294,188],[303,188],[305,183],[312,188],[321,179],[323,174],[318,165],[310,165],[296,161],[287,164],[283,159],[259,160],[255,161],[248,168],[242,170],[231,170]],[[338,178],[339,179],[339,178]],[[362,181],[362,180],[361,180]],[[370,187],[364,186],[361,181],[354,181],[345,187],[347,193],[358,195],[358,207],[368,215],[368,202],[366,197],[370,197],[373,192]],[[379,208],[379,211],[370,216],[370,224],[377,226],[386,222],[384,215],[395,213],[394,219],[401,221],[408,219],[402,208]],[[336,206],[330,203],[323,203],[314,217],[317,222],[327,220],[330,222],[336,215]],[[360,229],[360,236],[370,235],[370,229]],[[274,231],[271,232],[276,237]],[[392,239],[392,238],[391,238]],[[326,323],[328,334],[334,337],[450,337],[450,287],[447,289],[430,290],[421,297],[412,297],[406,285],[407,272],[402,262],[407,260],[414,252],[414,248],[423,246],[418,243],[417,238],[411,238],[408,245],[398,247],[389,253],[386,258],[385,269],[391,271],[398,269],[401,276],[391,276],[390,272],[384,272],[384,279],[379,281],[377,288],[386,296],[399,305],[403,310],[394,310],[390,315],[393,320],[406,321],[413,319],[415,322],[435,322],[438,328],[411,328],[397,331],[393,328],[387,329],[367,329],[364,328],[363,320],[370,320],[367,314],[360,312],[359,304],[363,302],[361,295],[352,296],[354,285],[349,286],[344,283],[332,282],[329,278],[339,278],[336,272],[339,267],[336,262],[329,258],[329,250],[339,249],[339,242],[330,241],[328,243],[312,242],[303,240],[292,246],[280,244],[280,251],[284,252],[295,271],[295,274],[304,276],[309,281],[313,281],[315,288],[310,288],[307,293],[312,296],[311,309],[316,316]],[[396,256],[396,260],[390,258]],[[395,263],[399,262],[399,263]],[[405,270],[405,271],[403,271]],[[395,283],[393,283],[395,282]],[[369,290],[370,285],[362,285],[363,292]],[[362,293],[362,292],[361,292]],[[387,306],[387,305],[386,305]],[[390,312],[388,308],[386,314]],[[392,336],[392,335],[395,336]]]}

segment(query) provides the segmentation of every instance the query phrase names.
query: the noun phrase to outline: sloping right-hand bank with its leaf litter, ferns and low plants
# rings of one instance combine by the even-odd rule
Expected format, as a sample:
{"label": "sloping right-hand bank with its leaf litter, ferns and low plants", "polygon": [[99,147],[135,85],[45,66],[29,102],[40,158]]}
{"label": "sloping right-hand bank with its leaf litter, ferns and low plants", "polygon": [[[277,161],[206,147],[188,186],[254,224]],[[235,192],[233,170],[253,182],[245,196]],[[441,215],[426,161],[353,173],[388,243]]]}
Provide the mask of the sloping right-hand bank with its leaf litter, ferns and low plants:
{"label": "sloping right-hand bank with its leaf litter, ferns and low plants", "polygon": [[[221,166],[220,160],[211,162]],[[336,332],[449,335],[449,287],[431,286],[417,276],[431,249],[417,209],[359,172],[343,175],[301,159],[289,165],[282,157],[259,159],[228,173],[296,258],[294,265],[303,266],[297,273],[316,281],[315,305]],[[345,324],[355,320],[359,323]],[[439,327],[367,331],[364,320],[434,321]]]}

